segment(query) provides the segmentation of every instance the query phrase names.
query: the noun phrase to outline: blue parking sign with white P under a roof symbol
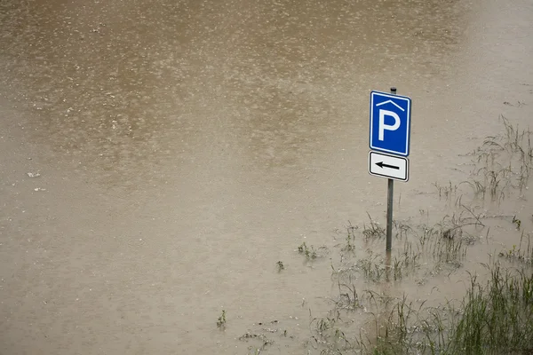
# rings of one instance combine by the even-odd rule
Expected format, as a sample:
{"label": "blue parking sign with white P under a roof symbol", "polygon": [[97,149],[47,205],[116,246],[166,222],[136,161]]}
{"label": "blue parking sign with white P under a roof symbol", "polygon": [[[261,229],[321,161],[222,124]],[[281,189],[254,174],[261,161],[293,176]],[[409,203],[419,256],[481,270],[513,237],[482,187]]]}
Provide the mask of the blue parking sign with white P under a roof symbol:
{"label": "blue parking sign with white P under a roof symbol", "polygon": [[386,92],[370,92],[370,149],[408,156],[411,99]]}

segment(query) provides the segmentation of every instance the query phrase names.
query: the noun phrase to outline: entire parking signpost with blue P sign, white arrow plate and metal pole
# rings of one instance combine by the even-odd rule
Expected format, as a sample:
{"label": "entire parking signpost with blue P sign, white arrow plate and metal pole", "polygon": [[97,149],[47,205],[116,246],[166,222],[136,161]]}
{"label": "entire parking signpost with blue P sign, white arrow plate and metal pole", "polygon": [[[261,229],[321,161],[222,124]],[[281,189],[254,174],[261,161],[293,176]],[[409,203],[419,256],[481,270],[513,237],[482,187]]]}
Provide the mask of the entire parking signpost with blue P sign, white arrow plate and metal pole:
{"label": "entire parking signpost with blue P sign, white arrow plate and metal pole", "polygon": [[[386,251],[393,248],[394,180],[409,179],[410,98],[391,93],[370,93],[370,175],[388,179],[386,192]],[[384,152],[384,153],[381,153]],[[385,154],[388,153],[388,154]],[[391,155],[393,154],[393,155]],[[401,156],[398,156],[401,155]]]}

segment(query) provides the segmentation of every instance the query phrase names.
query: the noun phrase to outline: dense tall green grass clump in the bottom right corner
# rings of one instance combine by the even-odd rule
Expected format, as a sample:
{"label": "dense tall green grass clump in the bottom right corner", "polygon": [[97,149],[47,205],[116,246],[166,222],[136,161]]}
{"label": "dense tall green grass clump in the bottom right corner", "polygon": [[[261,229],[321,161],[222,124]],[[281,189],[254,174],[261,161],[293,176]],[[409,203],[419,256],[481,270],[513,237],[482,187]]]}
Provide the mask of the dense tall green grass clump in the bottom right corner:
{"label": "dense tall green grass clump in the bottom right corner", "polygon": [[450,332],[447,353],[533,352],[533,274],[495,265],[490,276],[485,287],[471,279],[465,311]]}

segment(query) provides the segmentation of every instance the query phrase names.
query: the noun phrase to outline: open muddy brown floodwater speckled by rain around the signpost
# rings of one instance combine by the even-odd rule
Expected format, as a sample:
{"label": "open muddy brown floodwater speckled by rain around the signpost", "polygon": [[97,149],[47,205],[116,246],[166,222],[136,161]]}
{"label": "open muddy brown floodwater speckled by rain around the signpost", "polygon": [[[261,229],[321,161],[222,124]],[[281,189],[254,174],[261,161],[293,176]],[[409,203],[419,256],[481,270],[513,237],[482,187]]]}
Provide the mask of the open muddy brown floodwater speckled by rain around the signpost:
{"label": "open muddy brown floodwater speckled by rain around the signpost", "polygon": [[413,100],[394,217],[438,214],[529,124],[532,31],[528,0],[0,0],[0,353],[246,354],[259,322],[313,352],[337,256],[295,250],[385,217],[370,91]]}

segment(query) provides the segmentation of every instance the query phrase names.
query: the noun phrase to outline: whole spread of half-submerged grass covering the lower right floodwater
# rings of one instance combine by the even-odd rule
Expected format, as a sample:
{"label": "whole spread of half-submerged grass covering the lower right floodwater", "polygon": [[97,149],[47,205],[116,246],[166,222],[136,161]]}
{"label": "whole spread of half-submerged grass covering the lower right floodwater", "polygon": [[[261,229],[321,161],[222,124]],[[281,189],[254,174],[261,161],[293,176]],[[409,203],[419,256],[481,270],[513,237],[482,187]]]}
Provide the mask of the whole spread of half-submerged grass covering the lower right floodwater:
{"label": "whole spread of half-submerged grass covering the lower right floodwater", "polygon": [[[344,238],[335,252],[330,251],[338,253],[338,259],[330,258],[337,290],[329,298],[330,311],[316,316],[309,310],[308,354],[533,353],[531,235],[523,230],[520,218],[488,216],[479,207],[523,199],[533,170],[531,132],[500,119],[505,133],[486,138],[467,155],[473,166],[467,180],[434,184],[449,213],[436,223],[429,222],[426,209],[420,209],[418,220],[423,222],[395,220],[392,253],[376,252],[385,246],[385,229],[376,219],[368,215],[362,225],[348,222]],[[486,245],[490,222],[495,220],[520,231],[520,242],[493,249],[480,263],[481,272],[465,270],[469,248]],[[297,251],[306,261],[324,255],[322,248],[306,242]],[[462,299],[430,301],[387,291],[402,280],[424,287],[458,272],[468,275],[467,280],[459,279],[465,292]],[[361,318],[366,319],[363,324]]]}

